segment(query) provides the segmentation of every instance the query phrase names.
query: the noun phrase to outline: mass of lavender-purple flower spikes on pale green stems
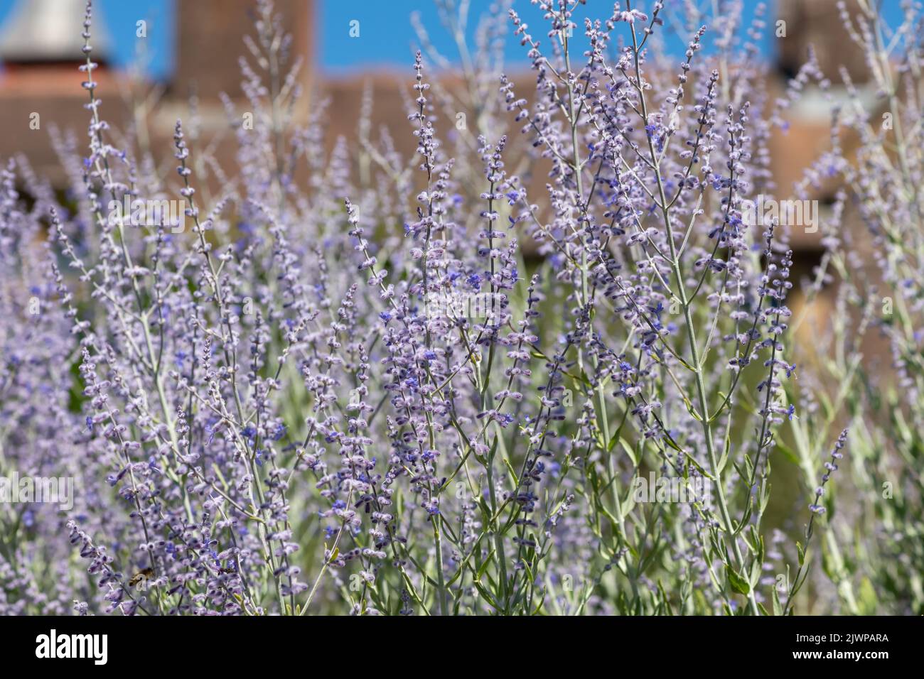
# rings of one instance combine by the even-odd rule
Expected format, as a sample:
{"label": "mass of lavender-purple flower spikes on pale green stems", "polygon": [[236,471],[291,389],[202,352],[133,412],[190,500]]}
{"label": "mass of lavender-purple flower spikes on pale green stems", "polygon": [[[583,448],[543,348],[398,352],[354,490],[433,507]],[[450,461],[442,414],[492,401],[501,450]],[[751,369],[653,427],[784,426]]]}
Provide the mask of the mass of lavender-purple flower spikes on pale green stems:
{"label": "mass of lavender-purple flower spikes on pale green stems", "polygon": [[[853,443],[828,431],[836,408],[803,435],[816,411],[793,384],[790,230],[749,206],[777,195],[773,129],[823,76],[809,59],[781,97],[755,87],[763,12],[746,26],[739,3],[711,30],[676,20],[679,66],[655,49],[662,2],[580,25],[583,2],[533,4],[542,41],[516,11],[484,20],[466,74],[486,97],[475,134],[441,134],[437,111],[464,93],[417,54],[406,163],[371,140],[368,111],[354,149],[320,150],[323,106],[299,115],[298,65],[260,2],[242,60],[254,124],[225,102],[237,174],[197,157],[193,116],[176,123],[172,176],[106,123],[88,4],[89,151],[58,139],[70,198],[25,161],[3,176],[0,459],[77,491],[67,511],[5,510],[0,611],[809,605],[813,532],[830,556],[830,489]],[[505,23],[535,91],[493,58]],[[912,204],[911,160],[885,189],[836,167],[879,236],[894,202]],[[128,199],[182,211],[139,228]],[[917,327],[902,322],[896,351]],[[919,455],[900,413],[902,450]],[[785,508],[804,530],[784,548],[767,525],[790,460],[812,485]],[[917,511],[919,527],[919,507],[888,520]],[[856,607],[846,566],[824,573]],[[896,589],[896,608],[920,605],[919,587]]]}

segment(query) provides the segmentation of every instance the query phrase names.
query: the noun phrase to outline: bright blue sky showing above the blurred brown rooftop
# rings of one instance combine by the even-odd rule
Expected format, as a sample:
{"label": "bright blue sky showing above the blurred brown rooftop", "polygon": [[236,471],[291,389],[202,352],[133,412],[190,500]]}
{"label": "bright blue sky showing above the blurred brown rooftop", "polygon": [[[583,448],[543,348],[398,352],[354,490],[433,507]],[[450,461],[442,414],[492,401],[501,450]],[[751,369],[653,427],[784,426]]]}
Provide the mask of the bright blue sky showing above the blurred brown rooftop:
{"label": "bright blue sky showing above the blurred brown rooftop", "polygon": [[[79,0],[66,0],[79,2]],[[480,12],[491,5],[492,0],[470,0],[469,28],[474,30]],[[672,2],[667,0],[670,6]],[[808,0],[811,2],[812,0]],[[0,0],[0,21],[6,19],[16,0]],[[643,2],[647,6],[648,2]],[[756,0],[746,0],[746,6],[757,5]],[[770,3],[772,6],[772,1]],[[898,0],[884,0],[887,18],[897,15]],[[96,11],[102,9],[106,28],[112,38],[116,63],[122,66],[130,63],[136,54],[137,39],[135,22],[145,18],[149,22],[146,47],[150,54],[147,68],[153,78],[168,79],[173,71],[174,12],[172,0],[96,0]],[[410,15],[419,12],[424,26],[430,31],[431,39],[439,47],[448,44],[448,35],[440,26],[439,14],[432,0],[317,0],[317,14],[314,22],[317,39],[318,64],[330,73],[343,73],[363,68],[407,68],[413,58],[417,35],[410,24]],[[514,6],[529,23],[530,32],[543,43],[547,43],[542,29],[541,13],[531,6],[529,0],[516,0]],[[589,16],[601,16],[612,9],[610,0],[589,0]],[[588,11],[585,9],[585,11]],[[350,21],[359,20],[359,38],[349,35]],[[76,27],[75,30],[79,30]],[[772,54],[772,24],[767,28],[767,39],[761,43],[764,54]],[[577,31],[576,31],[577,32]],[[680,55],[684,42],[672,38],[671,52]],[[243,50],[243,46],[241,46]],[[450,58],[456,57],[448,46],[444,50]],[[237,54],[237,53],[235,53]],[[512,37],[507,41],[506,58],[509,62],[525,64],[525,50]]]}

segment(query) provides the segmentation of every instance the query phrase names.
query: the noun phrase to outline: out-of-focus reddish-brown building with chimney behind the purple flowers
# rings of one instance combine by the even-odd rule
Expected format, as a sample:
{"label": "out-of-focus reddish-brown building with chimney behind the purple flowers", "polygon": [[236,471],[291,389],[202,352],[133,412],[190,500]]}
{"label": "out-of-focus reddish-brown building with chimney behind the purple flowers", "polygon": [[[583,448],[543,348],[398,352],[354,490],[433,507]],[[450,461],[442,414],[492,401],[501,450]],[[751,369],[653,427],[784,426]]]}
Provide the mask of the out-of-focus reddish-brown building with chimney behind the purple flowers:
{"label": "out-of-focus reddish-brown building with chimney behind the purple flowers", "polygon": [[[225,92],[243,113],[238,55],[246,55],[243,40],[254,35],[254,0],[175,0],[176,69],[162,96],[146,115],[150,147],[162,150],[169,160],[176,119],[188,117],[188,104],[196,104],[196,134],[210,145],[219,164],[233,163],[234,144],[220,94]],[[363,92],[370,88],[373,101],[373,127],[389,127],[399,152],[407,157],[414,151],[415,139],[407,134],[407,93],[412,71],[371,72],[341,79],[324,79],[316,67],[314,48],[315,4],[313,0],[275,0],[276,12],[291,35],[290,50],[302,61],[299,84],[312,96],[330,99],[330,123],[325,139],[327,150],[339,136],[355,135],[362,109]],[[862,83],[868,79],[866,64],[855,57],[857,50],[845,50],[849,41],[842,26],[835,0],[779,0],[778,18],[784,20],[786,36],[776,41],[778,54],[768,91],[782,91],[807,56],[809,45],[825,75],[832,79],[834,91],[840,81],[843,63],[851,76]],[[78,70],[83,3],[79,0],[19,0],[0,27],[0,161],[23,153],[42,176],[61,182],[60,170],[49,131],[53,127],[71,130],[82,147],[86,143],[87,93],[80,87],[84,74]],[[768,26],[773,30],[773,24]],[[141,94],[137,79],[118,72],[110,65],[110,40],[102,12],[93,17],[92,44],[94,72],[99,81],[97,94],[103,99],[103,115],[115,129],[138,126],[137,109],[130,105]],[[845,62],[846,59],[846,63]],[[534,76],[526,71],[518,91],[529,91]],[[144,83],[141,83],[144,85]],[[307,104],[306,104],[307,105]],[[798,181],[804,169],[826,148],[830,130],[829,105],[808,92],[791,110],[791,126],[771,142],[772,173],[783,195]],[[36,117],[37,116],[37,117]],[[134,117],[133,117],[134,116]],[[137,129],[137,127],[136,127]],[[141,134],[141,132],[140,132]],[[227,141],[225,143],[225,140]],[[208,181],[207,177],[200,177]],[[822,202],[832,198],[831,188],[813,189]],[[794,234],[796,245],[811,249],[818,235]]]}

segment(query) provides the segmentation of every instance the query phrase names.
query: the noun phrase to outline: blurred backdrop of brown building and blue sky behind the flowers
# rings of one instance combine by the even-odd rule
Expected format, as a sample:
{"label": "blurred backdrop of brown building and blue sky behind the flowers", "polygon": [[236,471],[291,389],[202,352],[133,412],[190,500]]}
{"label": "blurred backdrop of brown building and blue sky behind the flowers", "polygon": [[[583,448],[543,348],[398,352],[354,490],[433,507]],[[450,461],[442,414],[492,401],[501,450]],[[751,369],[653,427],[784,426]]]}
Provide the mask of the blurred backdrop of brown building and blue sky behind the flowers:
{"label": "blurred backdrop of brown building and blue sky behind the flowers", "polygon": [[[698,2],[704,13],[718,14],[714,5],[721,4],[720,0]],[[657,49],[664,51],[667,63],[679,61],[698,28],[681,20],[679,10],[696,5],[691,0],[665,2],[663,40]],[[841,65],[858,91],[869,92],[871,107],[875,92],[864,89],[869,74],[860,51],[845,49],[849,38],[836,0],[766,4],[743,0],[743,5],[743,22],[736,33],[744,33],[749,18],[765,6],[765,29],[752,40],[766,61],[766,91],[784,91],[787,79],[805,62],[809,45],[833,83],[828,96],[805,92],[787,111],[788,128],[776,132],[771,141],[772,178],[779,194],[788,197],[829,143],[831,98],[836,101],[846,96],[840,86]],[[326,103],[322,143],[328,154],[338,140],[358,136],[365,112],[371,137],[387,136],[402,157],[412,155],[417,141],[409,134],[407,103],[417,49],[424,51],[428,79],[441,81],[449,91],[454,82],[463,82],[471,71],[490,61],[492,68],[509,75],[517,91],[531,99],[535,77],[529,70],[527,49],[511,34],[508,21],[499,22],[506,24],[505,33],[497,34],[493,45],[479,44],[475,36],[480,17],[503,18],[507,7],[513,6],[536,28],[536,37],[548,42],[541,35],[541,10],[528,0],[276,0],[274,6],[285,17],[292,56],[302,65],[298,84],[305,94],[294,120],[306,123],[313,104]],[[612,6],[608,0],[589,0],[576,12],[578,26],[584,16],[608,15]],[[4,130],[0,159],[21,154],[40,176],[62,187],[66,169],[55,152],[55,139],[59,134],[71,135],[77,148],[82,148],[87,128],[86,92],[80,87],[83,78],[78,70],[82,58],[78,27],[83,11],[83,0],[0,0],[0,129]],[[900,3],[886,2],[881,11],[887,22],[894,21],[900,16]],[[254,18],[252,0],[97,0],[92,29],[93,56],[102,66],[95,74],[97,94],[103,98],[103,115],[116,134],[121,131],[138,139],[141,149],[150,151],[167,169],[173,162],[176,119],[194,114],[194,140],[201,142],[200,148],[207,149],[216,164],[233,166],[237,147],[228,111],[229,107],[237,109],[239,115],[247,108],[238,59],[247,54],[245,36],[253,34]],[[780,21],[784,22],[782,35]],[[578,47],[583,48],[582,30],[574,32]],[[707,32],[707,53],[714,35],[714,30]],[[496,50],[496,57],[473,53],[489,47],[492,54]],[[486,91],[494,91],[493,86]],[[227,96],[224,103],[223,93]],[[477,100],[478,96],[468,97],[455,110],[477,109]],[[32,124],[36,113],[41,116],[39,129]],[[452,111],[448,114],[451,121]],[[480,125],[477,112],[475,119],[468,130],[472,139],[479,133],[491,138],[492,130]],[[197,168],[197,176],[201,181],[221,183],[221,177],[210,176],[208,167]],[[808,198],[819,200],[823,221],[826,206],[834,200],[833,186],[822,181],[805,190]],[[821,231],[810,234],[796,229],[792,234],[797,275],[809,274],[819,261]],[[823,298],[816,310],[822,317],[828,312]],[[802,327],[810,333],[811,325]]]}

